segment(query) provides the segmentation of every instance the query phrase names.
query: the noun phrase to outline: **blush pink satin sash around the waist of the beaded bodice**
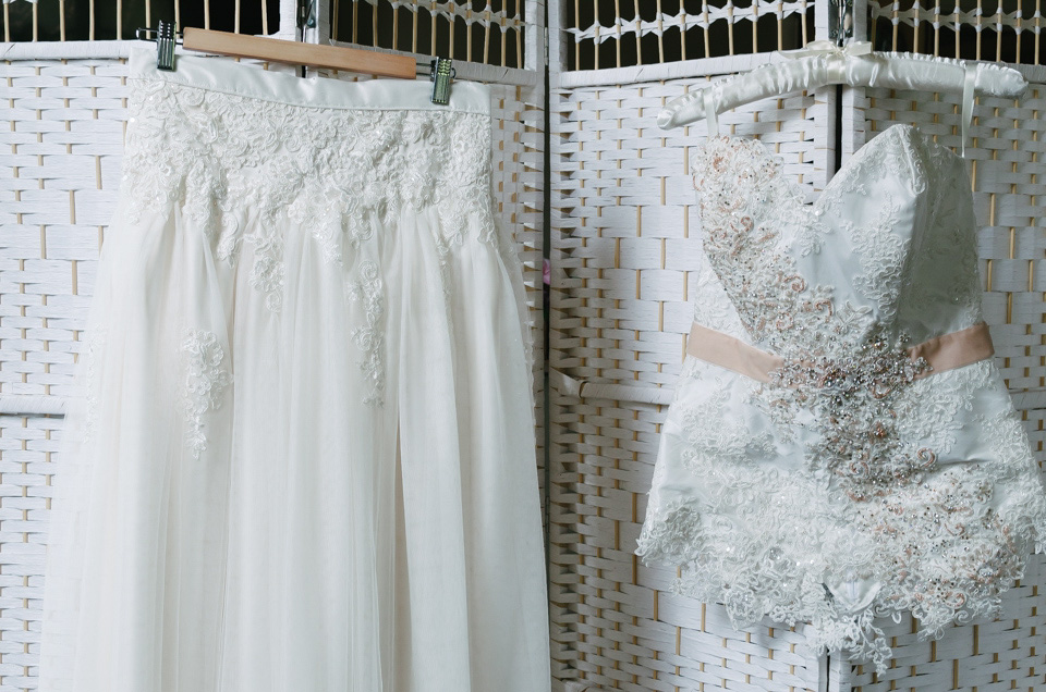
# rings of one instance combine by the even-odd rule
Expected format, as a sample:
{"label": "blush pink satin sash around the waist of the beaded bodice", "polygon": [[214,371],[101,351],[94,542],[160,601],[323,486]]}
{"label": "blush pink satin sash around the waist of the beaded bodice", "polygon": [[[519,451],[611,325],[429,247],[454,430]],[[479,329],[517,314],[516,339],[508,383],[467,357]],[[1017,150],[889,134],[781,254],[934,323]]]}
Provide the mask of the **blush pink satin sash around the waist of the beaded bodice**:
{"label": "blush pink satin sash around the waist of the beaded bodice", "polygon": [[[776,354],[696,322],[686,339],[686,353],[759,382],[769,382],[770,373],[784,366],[784,359]],[[915,375],[916,380],[985,360],[994,354],[992,334],[988,325],[983,322],[936,336],[908,349],[912,360],[925,358],[932,368]]]}

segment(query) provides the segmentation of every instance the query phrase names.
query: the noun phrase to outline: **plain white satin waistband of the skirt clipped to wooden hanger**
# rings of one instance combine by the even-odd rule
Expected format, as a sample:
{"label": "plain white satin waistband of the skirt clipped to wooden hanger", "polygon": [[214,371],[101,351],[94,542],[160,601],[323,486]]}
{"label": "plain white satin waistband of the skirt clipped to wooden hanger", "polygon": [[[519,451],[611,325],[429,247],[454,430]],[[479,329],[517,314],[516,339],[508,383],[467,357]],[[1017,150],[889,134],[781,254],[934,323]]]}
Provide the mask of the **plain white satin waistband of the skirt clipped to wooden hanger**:
{"label": "plain white satin waistband of the skirt clipped to wooden hanger", "polygon": [[431,102],[433,85],[428,78],[344,82],[330,77],[297,77],[231,59],[182,53],[174,57],[174,70],[166,71],[157,69],[156,48],[148,46],[131,46],[127,76],[307,108],[490,114],[490,88],[475,82],[453,82],[450,102],[440,106]]}

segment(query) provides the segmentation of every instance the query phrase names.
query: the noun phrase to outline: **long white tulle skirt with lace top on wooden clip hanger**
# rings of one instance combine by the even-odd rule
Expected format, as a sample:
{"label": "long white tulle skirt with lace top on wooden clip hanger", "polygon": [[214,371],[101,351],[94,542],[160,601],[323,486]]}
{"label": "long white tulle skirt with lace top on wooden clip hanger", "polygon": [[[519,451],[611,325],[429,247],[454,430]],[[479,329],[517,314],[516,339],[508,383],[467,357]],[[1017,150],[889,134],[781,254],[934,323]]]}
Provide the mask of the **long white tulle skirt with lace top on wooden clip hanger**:
{"label": "long white tulle skirt with lace top on wooden clip hanger", "polygon": [[132,51],[39,691],[548,690],[488,89]]}

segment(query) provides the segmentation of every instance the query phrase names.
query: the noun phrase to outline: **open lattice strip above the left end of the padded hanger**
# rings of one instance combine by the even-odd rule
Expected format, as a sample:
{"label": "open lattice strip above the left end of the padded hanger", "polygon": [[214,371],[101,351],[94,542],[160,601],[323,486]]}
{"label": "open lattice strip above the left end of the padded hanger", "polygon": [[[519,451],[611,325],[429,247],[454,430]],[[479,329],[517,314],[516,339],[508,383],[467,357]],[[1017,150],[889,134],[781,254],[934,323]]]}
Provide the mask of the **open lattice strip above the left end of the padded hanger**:
{"label": "open lattice strip above the left end of the padded hanger", "polygon": [[557,4],[568,71],[787,50],[814,38],[814,0],[563,0]]}

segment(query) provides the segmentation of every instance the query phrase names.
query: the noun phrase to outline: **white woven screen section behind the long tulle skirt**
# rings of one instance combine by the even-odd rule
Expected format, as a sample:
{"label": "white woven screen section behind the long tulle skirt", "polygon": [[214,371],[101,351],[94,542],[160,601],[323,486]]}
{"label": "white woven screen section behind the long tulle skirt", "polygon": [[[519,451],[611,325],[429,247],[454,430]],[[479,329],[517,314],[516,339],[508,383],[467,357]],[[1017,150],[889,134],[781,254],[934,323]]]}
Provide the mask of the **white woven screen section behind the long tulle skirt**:
{"label": "white woven screen section behind the long tulle skirt", "polygon": [[[4,413],[25,405],[58,411],[69,394],[120,182],[125,72],[118,60],[0,62],[0,103],[10,121],[0,128]],[[492,91],[495,200],[525,264],[540,424],[544,99],[533,87]],[[47,486],[61,469],[51,454],[60,428],[61,418],[0,417],[0,692],[35,688]],[[539,462],[543,440],[539,429]]]}

